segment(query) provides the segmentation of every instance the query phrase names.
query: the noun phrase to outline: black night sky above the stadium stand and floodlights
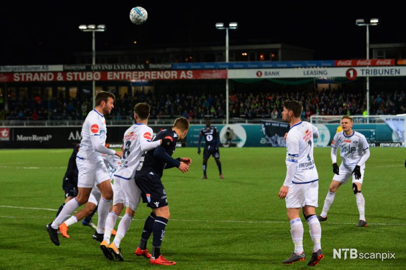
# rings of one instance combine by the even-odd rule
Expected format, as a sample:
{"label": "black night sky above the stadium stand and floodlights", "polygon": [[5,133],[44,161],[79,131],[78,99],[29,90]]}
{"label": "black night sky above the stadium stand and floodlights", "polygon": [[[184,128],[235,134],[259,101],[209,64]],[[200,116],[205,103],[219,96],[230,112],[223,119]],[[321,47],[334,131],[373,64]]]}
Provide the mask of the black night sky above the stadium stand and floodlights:
{"label": "black night sky above the stadium stand and floodlights", "polygon": [[[80,24],[107,25],[106,32],[96,32],[96,51],[222,46],[225,30],[217,30],[215,23],[232,21],[239,28],[229,31],[230,46],[284,43],[315,50],[316,60],[365,58],[366,27],[355,25],[357,18],[380,19],[378,26],[369,27],[371,44],[406,43],[404,11],[391,1],[379,6],[267,2],[270,8],[264,1],[244,6],[223,2],[228,8],[217,7],[218,1],[84,2],[2,3],[0,65],[74,63],[74,52],[91,51],[91,32],[80,31]],[[148,11],[144,25],[129,20],[136,6]]]}

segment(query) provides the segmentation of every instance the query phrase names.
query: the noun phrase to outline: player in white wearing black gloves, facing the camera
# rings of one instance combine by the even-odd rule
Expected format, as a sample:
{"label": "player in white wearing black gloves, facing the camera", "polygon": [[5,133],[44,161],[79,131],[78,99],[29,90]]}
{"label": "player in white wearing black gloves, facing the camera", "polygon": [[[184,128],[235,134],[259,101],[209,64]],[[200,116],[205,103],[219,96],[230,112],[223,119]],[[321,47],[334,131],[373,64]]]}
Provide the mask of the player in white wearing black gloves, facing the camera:
{"label": "player in white wearing black gloves, facing the camera", "polygon": [[[327,220],[327,212],[334,201],[335,192],[352,176],[352,188],[359,211],[359,221],[356,226],[365,227],[368,223],[365,221],[365,199],[361,193],[361,186],[364,179],[365,161],[369,157],[369,145],[365,136],[352,130],[353,119],[351,116],[344,115],[341,118],[341,126],[343,132],[336,133],[331,143],[331,161],[335,175],[324,200],[323,211],[318,218],[320,221]],[[337,165],[336,156],[339,148],[343,159],[340,167]]]}

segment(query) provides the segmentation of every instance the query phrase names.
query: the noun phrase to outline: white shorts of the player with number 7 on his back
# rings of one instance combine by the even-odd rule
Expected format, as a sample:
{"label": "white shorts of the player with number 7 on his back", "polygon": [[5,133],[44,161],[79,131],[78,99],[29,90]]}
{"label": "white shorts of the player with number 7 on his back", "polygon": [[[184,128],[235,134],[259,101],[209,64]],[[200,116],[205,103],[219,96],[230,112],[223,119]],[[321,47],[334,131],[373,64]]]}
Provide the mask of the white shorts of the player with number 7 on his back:
{"label": "white shorts of the player with number 7 on his back", "polygon": [[285,202],[286,208],[318,207],[319,181],[306,184],[291,184]]}

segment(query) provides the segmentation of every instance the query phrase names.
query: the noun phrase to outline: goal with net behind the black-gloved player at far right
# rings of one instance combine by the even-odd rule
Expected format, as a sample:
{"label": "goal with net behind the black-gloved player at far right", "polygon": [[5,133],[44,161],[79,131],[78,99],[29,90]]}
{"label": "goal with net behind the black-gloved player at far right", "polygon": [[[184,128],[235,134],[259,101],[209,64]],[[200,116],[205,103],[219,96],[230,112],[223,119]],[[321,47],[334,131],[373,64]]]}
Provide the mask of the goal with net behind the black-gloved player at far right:
{"label": "goal with net behind the black-gloved player at far right", "polygon": [[[406,147],[406,114],[399,115],[352,115],[353,130],[363,134],[370,146],[377,147]],[[312,115],[310,122],[323,133],[324,140],[318,140],[316,146],[327,146],[334,134],[342,131],[341,115]],[[326,138],[329,137],[329,138]]]}

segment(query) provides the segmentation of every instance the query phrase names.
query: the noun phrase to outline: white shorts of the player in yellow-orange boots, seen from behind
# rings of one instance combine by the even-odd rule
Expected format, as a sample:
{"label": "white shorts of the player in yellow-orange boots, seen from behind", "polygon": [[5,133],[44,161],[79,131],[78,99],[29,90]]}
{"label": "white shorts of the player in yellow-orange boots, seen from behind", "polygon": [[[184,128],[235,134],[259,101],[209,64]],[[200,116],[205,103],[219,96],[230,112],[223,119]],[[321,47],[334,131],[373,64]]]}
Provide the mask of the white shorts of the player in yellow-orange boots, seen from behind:
{"label": "white shorts of the player in yellow-orange boots, seen from behind", "polygon": [[141,200],[141,190],[134,178],[129,180],[114,176],[113,205],[125,204],[136,211]]}

